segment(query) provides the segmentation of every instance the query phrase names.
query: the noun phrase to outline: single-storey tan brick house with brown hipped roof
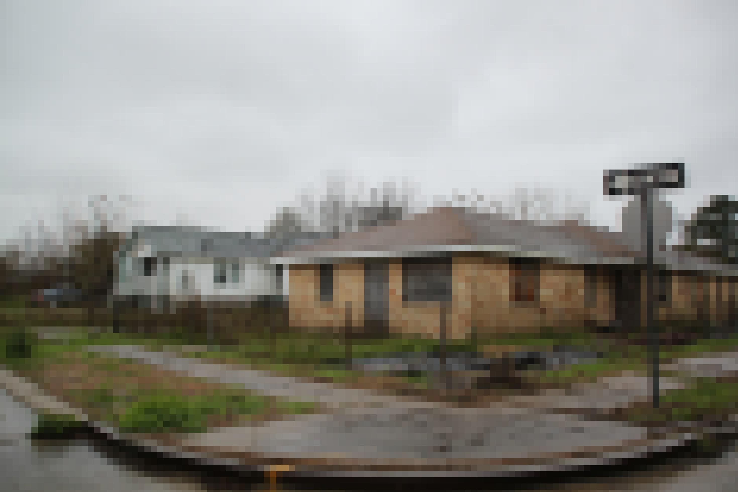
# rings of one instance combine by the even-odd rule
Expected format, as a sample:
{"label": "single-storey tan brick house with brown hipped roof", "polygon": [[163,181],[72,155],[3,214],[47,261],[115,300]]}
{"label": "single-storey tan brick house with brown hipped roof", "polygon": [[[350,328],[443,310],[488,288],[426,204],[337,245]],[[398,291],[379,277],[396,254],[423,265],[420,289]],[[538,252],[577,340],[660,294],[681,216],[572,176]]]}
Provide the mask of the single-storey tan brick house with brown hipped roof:
{"label": "single-storey tan brick house with brown hipped roof", "polygon": [[[736,271],[658,252],[657,316],[728,317]],[[444,207],[322,240],[275,258],[289,268],[289,323],[438,336],[471,330],[638,326],[638,253],[619,235],[575,223],[538,225]]]}

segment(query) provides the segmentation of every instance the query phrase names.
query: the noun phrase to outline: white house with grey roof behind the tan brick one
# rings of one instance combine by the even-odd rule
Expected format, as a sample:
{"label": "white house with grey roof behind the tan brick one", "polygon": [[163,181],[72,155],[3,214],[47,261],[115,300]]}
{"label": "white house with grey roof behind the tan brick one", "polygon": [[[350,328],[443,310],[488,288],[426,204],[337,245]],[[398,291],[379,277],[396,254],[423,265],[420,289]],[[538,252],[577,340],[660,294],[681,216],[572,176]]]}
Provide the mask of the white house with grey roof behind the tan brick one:
{"label": "white house with grey roof behind the tan brick one", "polygon": [[271,258],[290,243],[199,227],[139,226],[119,252],[114,297],[145,305],[166,300],[286,299],[288,272]]}

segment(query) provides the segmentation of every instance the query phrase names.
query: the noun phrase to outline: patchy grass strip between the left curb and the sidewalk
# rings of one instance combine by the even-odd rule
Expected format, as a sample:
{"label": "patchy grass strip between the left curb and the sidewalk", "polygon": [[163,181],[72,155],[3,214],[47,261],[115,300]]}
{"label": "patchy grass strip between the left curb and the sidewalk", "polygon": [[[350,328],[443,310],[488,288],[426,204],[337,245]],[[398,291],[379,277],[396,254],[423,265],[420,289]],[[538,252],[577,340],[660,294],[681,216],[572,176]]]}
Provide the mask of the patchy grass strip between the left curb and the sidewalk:
{"label": "patchy grass strip between the left curb and the sidewalk", "polygon": [[[267,397],[88,350],[101,339],[131,342],[120,336],[75,330],[61,342],[38,339],[33,330],[17,327],[3,328],[0,334],[0,363],[123,432],[204,432],[218,419],[233,423],[240,417],[269,418],[318,408],[317,403]],[[69,424],[49,415],[41,418],[37,434],[63,433]]]}

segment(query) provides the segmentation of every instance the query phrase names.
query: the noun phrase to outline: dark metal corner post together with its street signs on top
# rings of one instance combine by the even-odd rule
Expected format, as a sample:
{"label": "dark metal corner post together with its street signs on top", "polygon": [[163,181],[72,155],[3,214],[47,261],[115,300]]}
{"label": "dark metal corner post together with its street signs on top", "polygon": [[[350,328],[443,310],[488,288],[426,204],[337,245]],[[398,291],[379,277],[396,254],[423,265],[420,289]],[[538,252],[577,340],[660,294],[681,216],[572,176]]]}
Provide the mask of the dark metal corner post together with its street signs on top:
{"label": "dark metal corner post together with its street signs on top", "polygon": [[653,193],[654,190],[668,190],[684,187],[684,164],[649,164],[641,169],[606,170],[603,179],[605,195],[639,195],[641,213],[644,215],[646,229],[646,330],[649,334],[651,359],[651,388],[654,408],[660,404],[659,389],[659,343],[658,326],[653,319]]}

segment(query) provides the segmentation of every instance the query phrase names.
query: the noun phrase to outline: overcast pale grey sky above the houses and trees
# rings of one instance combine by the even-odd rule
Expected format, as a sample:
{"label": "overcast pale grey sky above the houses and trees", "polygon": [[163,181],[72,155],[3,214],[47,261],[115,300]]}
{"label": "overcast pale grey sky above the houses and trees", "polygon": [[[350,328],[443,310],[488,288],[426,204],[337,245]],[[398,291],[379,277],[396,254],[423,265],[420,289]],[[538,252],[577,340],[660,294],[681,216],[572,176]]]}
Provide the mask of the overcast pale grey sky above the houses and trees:
{"label": "overcast pale grey sky above the houses and trees", "polygon": [[0,2],[0,237],[64,200],[261,229],[341,170],[427,196],[568,188],[683,159],[738,179],[738,2]]}

